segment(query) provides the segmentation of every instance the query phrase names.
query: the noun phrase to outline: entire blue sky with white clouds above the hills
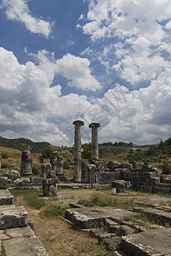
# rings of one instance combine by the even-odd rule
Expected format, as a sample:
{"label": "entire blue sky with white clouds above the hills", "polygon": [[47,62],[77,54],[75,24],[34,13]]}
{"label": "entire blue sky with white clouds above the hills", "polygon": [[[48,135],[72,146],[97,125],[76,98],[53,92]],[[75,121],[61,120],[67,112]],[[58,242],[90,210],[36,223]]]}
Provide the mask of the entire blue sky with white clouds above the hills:
{"label": "entire blue sky with white clouds above the hills", "polygon": [[169,0],[0,0],[0,136],[72,145],[171,137]]}

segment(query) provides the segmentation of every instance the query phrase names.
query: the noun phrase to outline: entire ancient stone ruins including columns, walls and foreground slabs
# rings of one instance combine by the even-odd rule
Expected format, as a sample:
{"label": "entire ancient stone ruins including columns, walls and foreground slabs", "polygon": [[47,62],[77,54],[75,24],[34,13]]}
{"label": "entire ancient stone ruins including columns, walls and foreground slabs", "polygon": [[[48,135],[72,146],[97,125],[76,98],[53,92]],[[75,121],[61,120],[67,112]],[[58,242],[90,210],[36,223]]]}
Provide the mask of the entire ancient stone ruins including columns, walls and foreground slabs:
{"label": "entire ancient stone ruins including columns, walls and foreground slabs", "polygon": [[[116,195],[131,195],[131,193],[134,195],[135,192],[133,191],[125,191],[128,188],[171,195],[171,177],[165,174],[159,175],[157,168],[151,165],[138,168],[135,161],[123,163],[115,160],[99,160],[99,123],[89,125],[89,128],[92,128],[91,160],[82,160],[81,126],[84,123],[76,120],[73,125],[75,125],[73,179],[65,177],[64,160],[56,150],[50,155],[50,162],[42,164],[40,177],[33,177],[30,151],[26,150],[22,153],[20,173],[14,170],[2,170],[0,153],[0,205],[3,206],[0,206],[0,230],[2,230],[1,237],[3,237],[0,238],[7,255],[11,255],[13,244],[19,247],[19,255],[23,248],[30,253],[32,243],[35,244],[35,255],[36,253],[37,255],[48,255],[42,243],[28,226],[25,208],[14,206],[14,197],[6,190],[9,187],[16,187],[17,189],[39,188],[43,190],[43,196],[56,197],[60,193],[58,188],[103,189],[110,186],[109,194],[114,197]],[[136,207],[131,210],[111,206],[83,207],[78,203],[71,202],[71,208],[66,210],[65,218],[75,228],[86,230],[90,236],[96,237],[99,242],[102,241],[106,246],[114,243],[117,250],[122,251],[121,254],[116,255],[171,255],[171,199],[165,206],[161,205],[161,197],[158,195],[153,197],[151,196],[149,199],[151,200],[150,203],[143,200],[134,201]],[[150,215],[160,224],[150,224],[150,227],[146,228],[146,223],[144,225],[135,223],[134,219],[140,216],[142,212]],[[12,229],[20,229],[20,231],[17,230],[20,232],[20,236],[13,236]],[[23,242],[24,240],[25,242]],[[30,255],[29,253],[28,255]]]}

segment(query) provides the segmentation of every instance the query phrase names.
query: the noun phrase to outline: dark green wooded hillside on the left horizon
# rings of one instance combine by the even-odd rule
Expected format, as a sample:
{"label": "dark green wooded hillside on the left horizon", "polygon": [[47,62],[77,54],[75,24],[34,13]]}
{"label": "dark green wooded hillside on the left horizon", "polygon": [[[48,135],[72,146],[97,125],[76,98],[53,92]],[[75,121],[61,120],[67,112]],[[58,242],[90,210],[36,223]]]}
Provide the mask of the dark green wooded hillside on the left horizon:
{"label": "dark green wooded hillside on the left horizon", "polygon": [[49,147],[49,145],[49,143],[34,143],[30,139],[23,137],[15,139],[0,137],[0,147],[15,148],[20,151],[28,149],[31,153],[41,153],[43,149]]}

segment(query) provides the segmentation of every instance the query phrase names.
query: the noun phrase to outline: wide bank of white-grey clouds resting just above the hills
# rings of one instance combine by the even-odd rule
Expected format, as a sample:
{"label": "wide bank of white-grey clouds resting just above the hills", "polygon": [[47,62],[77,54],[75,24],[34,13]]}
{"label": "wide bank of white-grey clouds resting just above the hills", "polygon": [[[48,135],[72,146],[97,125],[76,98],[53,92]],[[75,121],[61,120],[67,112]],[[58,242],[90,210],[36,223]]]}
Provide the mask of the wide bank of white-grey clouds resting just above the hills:
{"label": "wide bank of white-grey clouds resting just above the hills", "polygon": [[56,61],[46,50],[38,52],[37,59],[37,65],[20,65],[13,52],[0,48],[1,136],[66,145],[73,143],[73,120],[83,119],[83,142],[90,139],[91,122],[100,122],[100,142],[145,144],[170,137],[170,67],[146,88],[129,91],[116,84],[102,98],[92,99],[73,93],[62,96],[60,84],[51,86],[55,73],[66,68],[58,62],[63,59]]}

